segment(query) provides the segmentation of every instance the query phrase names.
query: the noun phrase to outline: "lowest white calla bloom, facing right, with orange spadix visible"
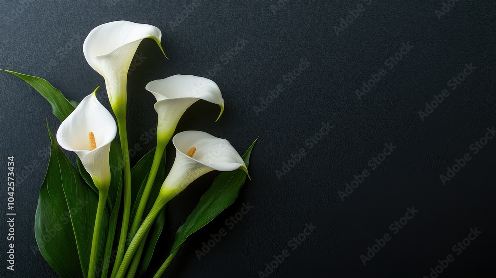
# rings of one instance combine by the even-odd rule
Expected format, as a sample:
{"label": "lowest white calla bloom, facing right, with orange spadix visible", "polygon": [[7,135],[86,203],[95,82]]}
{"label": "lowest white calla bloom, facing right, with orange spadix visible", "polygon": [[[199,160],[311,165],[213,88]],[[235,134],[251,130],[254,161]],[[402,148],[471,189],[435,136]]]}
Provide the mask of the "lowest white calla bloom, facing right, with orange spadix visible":
{"label": "lowest white calla bloom, facing right, with orange spadix visible", "polygon": [[[160,190],[170,199],[201,175],[213,170],[243,169],[248,174],[243,158],[229,141],[202,131],[184,131],[172,139],[176,159]],[[192,150],[195,149],[195,151]],[[192,155],[192,157],[190,156]]]}

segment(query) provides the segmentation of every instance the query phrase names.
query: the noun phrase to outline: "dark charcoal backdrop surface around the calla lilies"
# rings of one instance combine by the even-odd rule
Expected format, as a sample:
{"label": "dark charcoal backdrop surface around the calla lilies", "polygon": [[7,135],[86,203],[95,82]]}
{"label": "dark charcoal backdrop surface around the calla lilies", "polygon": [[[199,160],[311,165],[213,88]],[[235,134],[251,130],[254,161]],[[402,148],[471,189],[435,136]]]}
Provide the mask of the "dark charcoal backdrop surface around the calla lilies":
{"label": "dark charcoal backdrop surface around the calla lilies", "polygon": [[[97,25],[114,20],[161,29],[170,60],[152,40],[144,40],[136,54],[146,58],[129,75],[129,145],[142,147],[132,164],[155,145],[155,139],[148,144],[140,140],[156,126],[155,100],[146,83],[174,74],[203,76],[221,65],[212,79],[226,101],[224,115],[214,123],[218,107],[198,102],[176,131],[207,131],[228,139],[240,153],[260,136],[251,156],[253,180],[246,182],[234,205],[186,241],[166,277],[259,277],[265,263],[283,249],[290,256],[270,277],[420,278],[448,254],[455,260],[439,277],[494,277],[496,139],[477,154],[469,148],[496,124],[495,1],[461,0],[440,20],[435,10],[442,8],[441,0],[372,0],[370,5],[368,0],[292,0],[276,14],[271,10],[276,0],[200,1],[173,31],[169,22],[190,3],[121,0],[109,6],[104,0],[39,0],[7,24],[5,16],[20,3],[0,1],[0,68],[34,74],[55,59],[57,65],[44,78],[77,101],[104,82],[86,63],[84,38],[60,59],[58,49],[73,33],[86,37]],[[365,11],[337,36],[333,26],[359,4]],[[224,65],[220,55],[243,37],[248,43]],[[413,48],[388,69],[384,61],[407,42]],[[311,62],[308,69],[286,85],[283,76],[305,58]],[[451,90],[448,80],[466,63],[476,69]],[[355,90],[381,68],[387,74],[359,100]],[[253,107],[278,84],[285,90],[257,116]],[[419,110],[443,89],[450,95],[422,121]],[[8,155],[15,156],[18,171],[34,159],[40,162],[16,187],[15,272],[6,270],[7,195],[6,185],[0,187],[0,276],[56,277],[32,247],[38,190],[48,163],[39,155],[49,146],[45,121],[54,133],[60,123],[50,105],[22,80],[0,72],[0,92],[1,175],[6,176]],[[109,107],[105,93],[100,96]],[[333,128],[309,149],[305,142],[322,122]],[[368,161],[382,152],[384,143],[397,148],[372,171]],[[279,180],[275,171],[301,148],[307,155]],[[472,159],[444,185],[440,175],[465,153]],[[170,168],[172,146],[167,157]],[[370,176],[342,201],[338,191],[364,169]],[[177,228],[217,174],[200,178],[168,204],[167,231],[152,271],[167,257]],[[198,260],[195,250],[210,234],[226,228],[225,220],[248,202],[253,206],[248,214]],[[412,206],[419,212],[393,234],[389,226]],[[291,250],[288,241],[306,223],[317,228]],[[456,255],[452,246],[476,227],[482,233]],[[392,239],[364,266],[360,256],[385,233]]]}

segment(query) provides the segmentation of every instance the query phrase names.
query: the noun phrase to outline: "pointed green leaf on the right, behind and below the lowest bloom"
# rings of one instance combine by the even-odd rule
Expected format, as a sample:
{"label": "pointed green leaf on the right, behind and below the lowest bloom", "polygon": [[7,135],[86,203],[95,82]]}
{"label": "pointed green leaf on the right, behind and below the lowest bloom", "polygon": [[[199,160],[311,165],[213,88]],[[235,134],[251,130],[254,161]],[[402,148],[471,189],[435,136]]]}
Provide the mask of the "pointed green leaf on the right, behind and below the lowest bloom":
{"label": "pointed green leaf on the right, behind and below the lowest bloom", "polygon": [[[258,138],[242,156],[247,170],[251,150],[257,140]],[[246,176],[247,173],[245,171],[238,169],[231,172],[224,172],[215,178],[207,192],[201,196],[196,208],[187,217],[186,222],[179,227],[171,254],[177,252],[177,249],[192,233],[210,223],[224,209],[234,203],[241,187],[245,183]]]}

